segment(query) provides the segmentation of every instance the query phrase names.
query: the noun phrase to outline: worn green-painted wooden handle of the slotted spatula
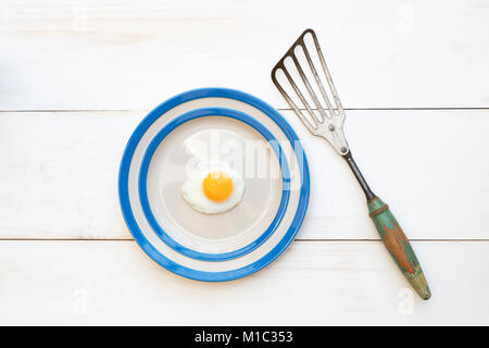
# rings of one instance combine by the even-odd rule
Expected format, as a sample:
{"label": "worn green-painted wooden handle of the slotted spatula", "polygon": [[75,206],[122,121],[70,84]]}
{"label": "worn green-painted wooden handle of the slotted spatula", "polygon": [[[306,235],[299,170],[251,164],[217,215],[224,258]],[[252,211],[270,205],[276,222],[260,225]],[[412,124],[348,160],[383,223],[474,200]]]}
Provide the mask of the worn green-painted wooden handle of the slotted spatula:
{"label": "worn green-painted wooden handle of the slotted spatula", "polygon": [[431,297],[425,274],[417,261],[413,247],[390,212],[389,206],[375,197],[368,200],[368,211],[387,250],[398,264],[411,286],[424,300]]}

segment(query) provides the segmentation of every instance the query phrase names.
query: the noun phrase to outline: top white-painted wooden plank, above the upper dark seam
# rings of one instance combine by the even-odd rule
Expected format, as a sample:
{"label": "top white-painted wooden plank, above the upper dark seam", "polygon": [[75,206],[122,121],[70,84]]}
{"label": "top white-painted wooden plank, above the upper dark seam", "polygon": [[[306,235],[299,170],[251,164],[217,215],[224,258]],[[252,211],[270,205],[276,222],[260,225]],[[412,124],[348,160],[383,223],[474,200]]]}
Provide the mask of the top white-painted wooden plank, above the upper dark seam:
{"label": "top white-painted wooden plank, above the upper dark seam", "polygon": [[488,16],[484,0],[2,1],[0,110],[149,109],[206,86],[285,107],[269,72],[306,27],[346,108],[487,108]]}

